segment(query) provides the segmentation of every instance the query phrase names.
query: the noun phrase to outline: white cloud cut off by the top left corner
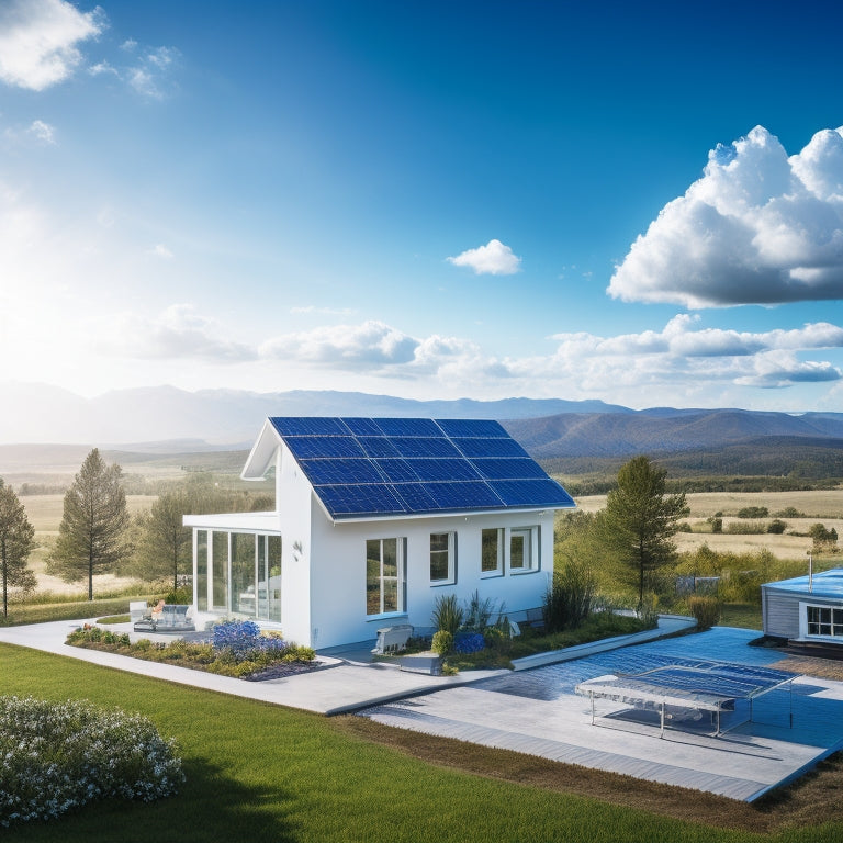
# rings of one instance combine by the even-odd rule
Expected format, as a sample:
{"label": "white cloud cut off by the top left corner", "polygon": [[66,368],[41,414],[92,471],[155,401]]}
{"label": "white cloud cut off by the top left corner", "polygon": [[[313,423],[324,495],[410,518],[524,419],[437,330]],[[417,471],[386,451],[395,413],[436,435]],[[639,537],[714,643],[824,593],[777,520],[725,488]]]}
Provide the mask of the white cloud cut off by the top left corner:
{"label": "white cloud cut off by the top left corner", "polygon": [[0,5],[0,79],[42,91],[81,63],[78,44],[102,31],[101,13],[65,0],[12,0]]}

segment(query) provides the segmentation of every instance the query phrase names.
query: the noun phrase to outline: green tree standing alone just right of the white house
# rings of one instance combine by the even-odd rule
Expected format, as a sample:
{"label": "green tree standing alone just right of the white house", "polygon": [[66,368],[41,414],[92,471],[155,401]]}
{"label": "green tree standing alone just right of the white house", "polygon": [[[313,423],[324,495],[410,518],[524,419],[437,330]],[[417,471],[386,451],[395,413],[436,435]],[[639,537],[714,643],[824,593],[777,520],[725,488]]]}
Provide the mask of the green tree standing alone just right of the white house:
{"label": "green tree standing alone just right of the white house", "polygon": [[638,588],[639,609],[648,575],[676,555],[672,539],[679,518],[688,514],[684,493],[665,494],[666,475],[649,457],[634,457],[620,468],[617,488],[609,492],[599,518],[604,542],[621,563],[621,574]]}

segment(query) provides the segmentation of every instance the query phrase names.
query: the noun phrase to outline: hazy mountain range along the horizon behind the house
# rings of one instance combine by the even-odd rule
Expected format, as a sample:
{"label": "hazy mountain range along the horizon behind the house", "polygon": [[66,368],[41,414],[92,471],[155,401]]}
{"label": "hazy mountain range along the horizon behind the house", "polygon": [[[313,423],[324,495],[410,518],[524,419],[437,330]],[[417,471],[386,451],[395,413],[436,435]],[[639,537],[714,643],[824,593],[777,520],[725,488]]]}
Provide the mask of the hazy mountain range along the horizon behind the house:
{"label": "hazy mountain range along the horizon behind the house", "polygon": [[0,384],[0,442],[78,443],[146,453],[250,448],[267,416],[496,418],[535,458],[758,449],[843,451],[843,413],[735,408],[634,411],[600,401],[413,401],[357,392],[127,389],[94,398],[40,384]]}

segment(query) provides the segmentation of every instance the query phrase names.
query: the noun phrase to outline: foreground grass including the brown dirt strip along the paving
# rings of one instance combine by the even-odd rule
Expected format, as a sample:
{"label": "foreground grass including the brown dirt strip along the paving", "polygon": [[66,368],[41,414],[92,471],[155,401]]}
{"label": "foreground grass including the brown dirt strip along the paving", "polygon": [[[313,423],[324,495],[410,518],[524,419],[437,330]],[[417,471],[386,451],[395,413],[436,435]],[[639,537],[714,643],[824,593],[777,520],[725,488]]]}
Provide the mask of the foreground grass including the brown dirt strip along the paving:
{"label": "foreground grass including the brown dirt strip along the paving", "polygon": [[[327,719],[0,645],[7,694],[87,698],[175,738],[187,783],[150,805],[109,801],[4,841],[577,841],[832,843],[835,762],[760,807],[380,727]],[[200,715],[200,716],[198,716]]]}

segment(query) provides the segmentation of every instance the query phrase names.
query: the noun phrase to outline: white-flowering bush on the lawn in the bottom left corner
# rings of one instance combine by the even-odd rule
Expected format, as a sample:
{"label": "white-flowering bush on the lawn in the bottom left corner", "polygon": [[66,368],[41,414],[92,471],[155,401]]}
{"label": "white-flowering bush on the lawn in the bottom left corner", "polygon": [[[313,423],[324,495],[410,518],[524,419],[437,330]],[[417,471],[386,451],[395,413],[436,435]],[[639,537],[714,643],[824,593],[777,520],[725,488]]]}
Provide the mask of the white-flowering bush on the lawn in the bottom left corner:
{"label": "white-flowering bush on the lawn in the bottom left corner", "polygon": [[0,825],[52,819],[117,797],[145,802],[184,777],[149,720],[85,700],[0,697]]}

